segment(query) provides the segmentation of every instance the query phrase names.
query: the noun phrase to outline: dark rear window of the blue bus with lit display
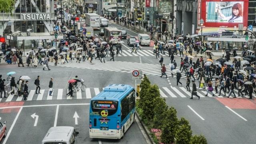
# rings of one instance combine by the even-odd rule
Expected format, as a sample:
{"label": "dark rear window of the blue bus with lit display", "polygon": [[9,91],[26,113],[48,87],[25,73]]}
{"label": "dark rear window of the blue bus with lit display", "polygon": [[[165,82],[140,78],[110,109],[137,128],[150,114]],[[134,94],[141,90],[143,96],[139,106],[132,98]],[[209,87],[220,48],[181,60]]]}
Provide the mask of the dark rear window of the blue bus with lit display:
{"label": "dark rear window of the blue bus with lit display", "polygon": [[117,101],[111,100],[92,100],[92,115],[101,115],[102,110],[108,111],[108,116],[111,116],[116,113],[118,108]]}

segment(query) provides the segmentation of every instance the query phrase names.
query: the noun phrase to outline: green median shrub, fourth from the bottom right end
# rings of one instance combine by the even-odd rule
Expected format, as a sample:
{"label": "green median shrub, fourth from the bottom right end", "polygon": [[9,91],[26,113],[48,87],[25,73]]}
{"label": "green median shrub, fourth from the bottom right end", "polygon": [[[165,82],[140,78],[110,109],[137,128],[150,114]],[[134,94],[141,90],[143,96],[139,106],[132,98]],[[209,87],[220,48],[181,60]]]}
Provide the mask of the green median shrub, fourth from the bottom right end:
{"label": "green median shrub, fourth from the bottom right end", "polygon": [[161,97],[156,97],[153,101],[154,104],[154,118],[153,118],[153,128],[162,128],[164,123],[164,117],[166,117],[166,110],[168,106],[165,102],[166,100]]}

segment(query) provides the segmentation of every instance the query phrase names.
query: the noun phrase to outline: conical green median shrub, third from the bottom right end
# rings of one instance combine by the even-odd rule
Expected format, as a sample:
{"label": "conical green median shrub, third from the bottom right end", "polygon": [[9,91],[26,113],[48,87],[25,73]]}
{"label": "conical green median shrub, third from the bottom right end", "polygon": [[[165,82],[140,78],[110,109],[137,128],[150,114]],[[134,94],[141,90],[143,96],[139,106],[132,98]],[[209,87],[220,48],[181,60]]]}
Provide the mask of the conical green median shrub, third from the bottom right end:
{"label": "conical green median shrub, third from the bottom right end", "polygon": [[164,124],[162,125],[161,142],[165,144],[174,143],[175,130],[178,126],[177,111],[174,107],[169,108],[165,112]]}

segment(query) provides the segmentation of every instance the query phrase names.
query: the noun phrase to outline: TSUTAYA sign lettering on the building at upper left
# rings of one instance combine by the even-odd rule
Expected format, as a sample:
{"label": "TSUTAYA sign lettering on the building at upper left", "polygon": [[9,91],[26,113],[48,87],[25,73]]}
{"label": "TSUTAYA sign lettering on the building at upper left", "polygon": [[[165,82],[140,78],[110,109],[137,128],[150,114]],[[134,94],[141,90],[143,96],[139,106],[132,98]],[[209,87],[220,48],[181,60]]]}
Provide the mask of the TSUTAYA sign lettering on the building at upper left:
{"label": "TSUTAYA sign lettering on the building at upper left", "polygon": [[50,13],[30,13],[21,14],[21,20],[51,20]]}

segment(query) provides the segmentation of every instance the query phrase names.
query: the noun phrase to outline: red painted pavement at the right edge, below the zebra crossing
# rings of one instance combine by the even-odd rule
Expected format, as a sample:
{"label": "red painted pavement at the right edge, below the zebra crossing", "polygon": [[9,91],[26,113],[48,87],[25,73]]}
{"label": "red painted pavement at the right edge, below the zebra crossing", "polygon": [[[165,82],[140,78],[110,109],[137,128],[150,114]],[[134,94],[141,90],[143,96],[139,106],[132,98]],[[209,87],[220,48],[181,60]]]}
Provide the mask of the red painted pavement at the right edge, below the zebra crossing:
{"label": "red painted pavement at the right edge, below the zebra crossing", "polygon": [[216,98],[224,106],[234,109],[256,109],[256,99],[248,98]]}

